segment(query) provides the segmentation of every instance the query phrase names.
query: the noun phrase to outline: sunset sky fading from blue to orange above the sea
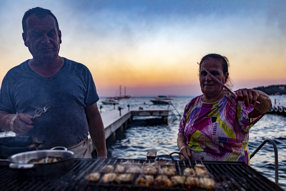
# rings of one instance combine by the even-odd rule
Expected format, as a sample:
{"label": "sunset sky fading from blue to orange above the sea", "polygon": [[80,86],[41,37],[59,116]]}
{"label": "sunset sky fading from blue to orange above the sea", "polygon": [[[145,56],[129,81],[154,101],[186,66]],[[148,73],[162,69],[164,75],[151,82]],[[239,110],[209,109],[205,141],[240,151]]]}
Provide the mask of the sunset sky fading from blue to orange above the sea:
{"label": "sunset sky fading from blue to orange above the sea", "polygon": [[21,21],[49,9],[59,55],[86,65],[100,97],[202,94],[198,64],[226,56],[233,90],[286,84],[284,0],[0,0],[0,82],[32,56]]}

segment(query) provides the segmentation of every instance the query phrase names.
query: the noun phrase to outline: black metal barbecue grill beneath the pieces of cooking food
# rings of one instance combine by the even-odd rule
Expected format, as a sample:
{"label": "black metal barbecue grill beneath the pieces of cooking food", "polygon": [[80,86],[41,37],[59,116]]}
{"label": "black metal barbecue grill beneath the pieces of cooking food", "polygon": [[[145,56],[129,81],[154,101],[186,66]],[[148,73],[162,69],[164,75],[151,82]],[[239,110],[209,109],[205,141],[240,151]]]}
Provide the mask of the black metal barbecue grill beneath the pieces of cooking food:
{"label": "black metal barbecue grill beneath the pieces of cooking food", "polygon": [[[159,168],[165,165],[175,168],[175,174],[183,176],[186,168],[194,168],[197,162],[194,161],[171,161],[171,160],[130,160],[130,159],[75,159],[71,170],[58,176],[31,177],[23,174],[22,171],[9,169],[8,166],[0,166],[0,188],[1,190],[205,190],[200,186],[187,186],[177,184],[176,186],[137,186],[136,179],[144,174],[143,168],[140,172],[132,174],[128,183],[102,182],[105,174],[116,171],[116,166],[148,166],[154,162]],[[215,182],[213,190],[283,190],[274,182],[262,176],[259,172],[247,166],[243,162],[204,162],[203,163],[208,176]],[[113,166],[114,169],[110,167]],[[107,170],[108,168],[109,171]],[[101,179],[98,182],[86,180],[88,174],[100,172]],[[117,177],[120,176],[117,173]],[[154,177],[159,176],[160,171],[152,172]],[[166,174],[168,175],[168,174]],[[170,177],[170,176],[169,176]],[[200,177],[198,177],[200,178]],[[155,178],[152,180],[155,181]],[[162,180],[161,180],[162,181]],[[159,180],[160,182],[160,180]]]}

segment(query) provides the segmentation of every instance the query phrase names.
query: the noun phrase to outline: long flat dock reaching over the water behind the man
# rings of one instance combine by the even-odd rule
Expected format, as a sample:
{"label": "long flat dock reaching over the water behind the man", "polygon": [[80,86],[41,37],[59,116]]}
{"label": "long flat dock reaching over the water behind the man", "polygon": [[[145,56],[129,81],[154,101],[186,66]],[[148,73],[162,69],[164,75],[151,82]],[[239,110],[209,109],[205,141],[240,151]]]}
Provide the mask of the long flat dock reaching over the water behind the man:
{"label": "long flat dock reaching over the water behind the man", "polygon": [[[116,133],[122,132],[128,127],[128,123],[133,120],[134,116],[160,116],[162,123],[168,123],[169,110],[167,109],[146,109],[146,110],[128,110],[113,109],[101,113],[105,130],[105,139],[116,140]],[[91,151],[95,150],[90,135],[88,135]]]}

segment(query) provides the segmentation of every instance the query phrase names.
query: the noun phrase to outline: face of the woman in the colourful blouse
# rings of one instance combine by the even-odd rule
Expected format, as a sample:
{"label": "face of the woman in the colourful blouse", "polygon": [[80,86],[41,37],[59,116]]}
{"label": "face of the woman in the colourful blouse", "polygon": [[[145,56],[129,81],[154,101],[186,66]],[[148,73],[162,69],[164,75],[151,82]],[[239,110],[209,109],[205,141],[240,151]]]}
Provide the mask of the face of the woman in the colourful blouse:
{"label": "face of the woman in the colourful blouse", "polygon": [[227,72],[224,74],[221,64],[215,59],[204,60],[201,66],[205,69],[202,69],[202,67],[200,68],[200,88],[204,96],[214,98],[221,95],[223,86],[212,80],[212,77],[206,72],[206,70],[223,84],[227,81],[229,73]]}

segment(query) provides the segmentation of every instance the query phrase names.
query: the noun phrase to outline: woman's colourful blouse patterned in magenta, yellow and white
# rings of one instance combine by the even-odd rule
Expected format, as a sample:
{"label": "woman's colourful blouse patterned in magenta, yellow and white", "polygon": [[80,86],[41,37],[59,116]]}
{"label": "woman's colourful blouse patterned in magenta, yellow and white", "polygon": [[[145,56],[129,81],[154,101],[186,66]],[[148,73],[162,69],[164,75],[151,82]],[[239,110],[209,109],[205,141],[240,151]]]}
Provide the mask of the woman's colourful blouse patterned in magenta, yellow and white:
{"label": "woman's colourful blouse patterned in magenta, yellow and white", "polygon": [[192,99],[185,107],[178,133],[187,139],[190,160],[243,161],[250,165],[249,129],[263,116],[249,119],[253,109],[231,93],[215,103],[204,103],[202,95]]}

